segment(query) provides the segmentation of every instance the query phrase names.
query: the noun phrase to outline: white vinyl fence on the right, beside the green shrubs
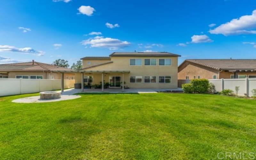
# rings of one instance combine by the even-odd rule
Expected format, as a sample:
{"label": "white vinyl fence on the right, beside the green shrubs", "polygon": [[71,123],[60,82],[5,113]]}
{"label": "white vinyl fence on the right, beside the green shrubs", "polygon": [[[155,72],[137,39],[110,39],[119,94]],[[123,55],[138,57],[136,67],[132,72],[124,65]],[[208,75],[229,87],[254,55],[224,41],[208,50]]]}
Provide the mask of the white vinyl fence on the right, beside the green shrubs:
{"label": "white vinyl fence on the right, beside the green shrubs", "polygon": [[[191,80],[178,80],[178,86],[189,83]],[[235,87],[239,87],[238,95],[252,96],[252,90],[256,89],[256,78],[240,78],[240,79],[209,79],[209,82],[214,84],[216,92],[221,92],[223,89],[231,89],[235,92]]]}

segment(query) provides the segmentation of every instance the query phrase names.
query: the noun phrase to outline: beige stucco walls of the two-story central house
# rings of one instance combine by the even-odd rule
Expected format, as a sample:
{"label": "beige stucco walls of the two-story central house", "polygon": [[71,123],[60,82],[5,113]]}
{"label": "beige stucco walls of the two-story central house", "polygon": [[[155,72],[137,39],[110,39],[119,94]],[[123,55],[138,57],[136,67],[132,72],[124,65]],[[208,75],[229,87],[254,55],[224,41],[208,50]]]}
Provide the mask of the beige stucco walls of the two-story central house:
{"label": "beige stucco walls of the two-story central house", "polygon": [[[171,59],[171,66],[159,66],[158,59]],[[142,59],[141,66],[130,66],[130,59]],[[144,59],[156,59],[156,66],[144,66]],[[125,86],[130,88],[177,88],[178,57],[111,57],[113,63],[102,66],[88,68],[90,71],[121,71],[126,70],[130,73],[124,74]],[[84,74],[93,76],[92,84],[100,84],[101,74]],[[104,81],[109,82],[109,76],[122,76],[122,74],[105,74]],[[142,76],[142,83],[130,83],[130,76]],[[144,76],[156,76],[157,83],[144,83]],[[171,83],[158,83],[158,76],[171,76]],[[81,83],[81,74],[76,74],[76,83]]]}

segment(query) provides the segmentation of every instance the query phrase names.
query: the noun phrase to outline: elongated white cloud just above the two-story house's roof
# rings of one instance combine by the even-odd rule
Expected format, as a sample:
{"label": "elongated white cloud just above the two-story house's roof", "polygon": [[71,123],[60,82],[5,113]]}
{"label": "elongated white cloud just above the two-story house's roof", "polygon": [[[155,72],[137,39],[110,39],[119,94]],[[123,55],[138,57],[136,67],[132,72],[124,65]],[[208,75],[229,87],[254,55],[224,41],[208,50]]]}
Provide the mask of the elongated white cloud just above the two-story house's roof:
{"label": "elongated white cloud just above the two-story house's roof", "polygon": [[127,41],[121,41],[115,38],[89,38],[81,42],[83,45],[90,45],[91,47],[108,48],[110,50],[117,50],[119,48],[128,47],[131,43]]}

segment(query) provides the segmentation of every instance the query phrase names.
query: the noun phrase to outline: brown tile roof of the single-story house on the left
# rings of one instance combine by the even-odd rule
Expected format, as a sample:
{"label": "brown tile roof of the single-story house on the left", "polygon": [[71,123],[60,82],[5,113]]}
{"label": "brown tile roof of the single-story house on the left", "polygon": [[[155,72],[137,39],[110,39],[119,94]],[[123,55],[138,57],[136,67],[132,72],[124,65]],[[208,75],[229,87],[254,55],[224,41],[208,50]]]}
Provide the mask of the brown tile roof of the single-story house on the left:
{"label": "brown tile roof of the single-story house on the left", "polygon": [[73,71],[69,68],[58,67],[52,64],[40,63],[40,62],[25,62],[25,63],[12,63],[1,64],[0,71]]}

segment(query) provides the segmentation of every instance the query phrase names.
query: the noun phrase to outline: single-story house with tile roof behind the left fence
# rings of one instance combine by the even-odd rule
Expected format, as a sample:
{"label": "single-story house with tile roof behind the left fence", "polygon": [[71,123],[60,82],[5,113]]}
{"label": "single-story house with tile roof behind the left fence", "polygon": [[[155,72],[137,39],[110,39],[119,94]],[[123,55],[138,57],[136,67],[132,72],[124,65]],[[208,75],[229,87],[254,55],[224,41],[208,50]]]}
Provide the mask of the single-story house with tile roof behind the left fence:
{"label": "single-story house with tile roof behind the left fence", "polygon": [[[58,70],[70,71],[71,69],[57,67],[40,62],[25,62],[0,65],[0,78],[24,78],[24,79],[61,79]],[[64,79],[74,79],[74,73],[65,73]]]}

